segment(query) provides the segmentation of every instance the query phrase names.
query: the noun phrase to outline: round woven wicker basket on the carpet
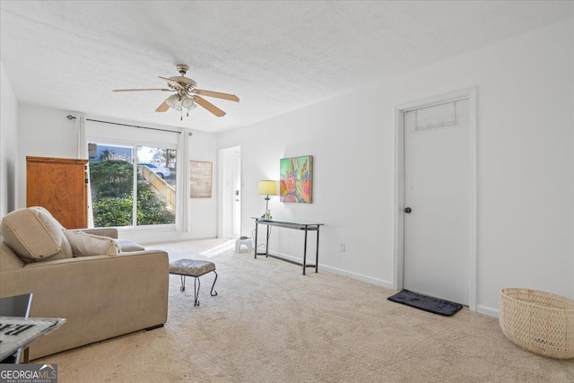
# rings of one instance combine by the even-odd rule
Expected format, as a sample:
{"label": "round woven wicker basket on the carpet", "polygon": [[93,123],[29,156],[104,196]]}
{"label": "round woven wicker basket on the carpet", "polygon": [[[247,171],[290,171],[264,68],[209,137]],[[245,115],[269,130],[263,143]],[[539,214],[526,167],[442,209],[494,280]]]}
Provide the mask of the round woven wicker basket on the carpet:
{"label": "round woven wicker basket on the carpet", "polygon": [[518,346],[555,359],[574,358],[574,300],[550,292],[500,290],[502,333]]}

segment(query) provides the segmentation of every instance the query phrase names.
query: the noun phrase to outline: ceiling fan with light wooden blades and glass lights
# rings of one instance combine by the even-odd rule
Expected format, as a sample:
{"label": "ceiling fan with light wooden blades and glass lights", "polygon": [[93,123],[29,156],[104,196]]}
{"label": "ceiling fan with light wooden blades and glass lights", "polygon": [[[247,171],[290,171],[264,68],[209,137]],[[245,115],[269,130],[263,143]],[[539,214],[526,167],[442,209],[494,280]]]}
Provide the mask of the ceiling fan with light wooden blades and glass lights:
{"label": "ceiling fan with light wooden blades and glass lights", "polygon": [[[161,80],[165,80],[169,89],[162,88],[152,88],[152,89],[115,89],[113,91],[175,91],[170,97],[164,100],[156,112],[165,112],[168,109],[176,109],[178,111],[187,109],[187,116],[189,116],[189,109],[196,107],[196,104],[204,109],[207,109],[217,117],[225,116],[225,112],[222,109],[217,108],[208,100],[205,100],[201,96],[215,97],[222,100],[230,100],[239,102],[239,98],[234,94],[222,93],[219,91],[204,91],[202,89],[197,89],[197,83],[186,77],[187,70],[189,66],[185,64],[176,65],[180,76],[172,77],[161,77]],[[181,117],[183,119],[183,116]]]}

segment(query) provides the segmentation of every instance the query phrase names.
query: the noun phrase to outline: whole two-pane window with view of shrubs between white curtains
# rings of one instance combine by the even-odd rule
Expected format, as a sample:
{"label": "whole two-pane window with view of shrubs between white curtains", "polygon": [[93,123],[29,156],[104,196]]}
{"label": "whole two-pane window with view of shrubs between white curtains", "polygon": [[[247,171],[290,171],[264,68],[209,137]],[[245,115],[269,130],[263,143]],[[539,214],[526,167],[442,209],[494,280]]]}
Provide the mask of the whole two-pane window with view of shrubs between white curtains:
{"label": "whole two-pane window with view of shrubs between white curtains", "polygon": [[100,143],[90,147],[95,227],[175,223],[175,149]]}

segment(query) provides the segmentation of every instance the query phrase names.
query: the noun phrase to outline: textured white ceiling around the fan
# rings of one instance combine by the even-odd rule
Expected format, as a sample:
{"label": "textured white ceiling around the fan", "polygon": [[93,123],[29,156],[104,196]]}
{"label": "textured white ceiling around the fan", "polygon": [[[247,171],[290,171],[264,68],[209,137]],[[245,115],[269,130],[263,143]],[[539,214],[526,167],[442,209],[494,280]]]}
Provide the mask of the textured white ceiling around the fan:
{"label": "textured white ceiling around the fan", "polygon": [[[2,1],[0,49],[21,102],[221,132],[574,17],[570,1]],[[535,52],[533,52],[535,54]],[[237,94],[154,110],[158,76]]]}

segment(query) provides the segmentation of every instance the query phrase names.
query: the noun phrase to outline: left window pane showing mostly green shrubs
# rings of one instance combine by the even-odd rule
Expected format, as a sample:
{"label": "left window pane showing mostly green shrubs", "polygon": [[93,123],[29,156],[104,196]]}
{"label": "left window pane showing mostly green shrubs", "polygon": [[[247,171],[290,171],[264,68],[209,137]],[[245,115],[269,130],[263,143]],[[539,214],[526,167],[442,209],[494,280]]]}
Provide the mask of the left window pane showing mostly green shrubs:
{"label": "left window pane showing mostly green shrubs", "polygon": [[[94,226],[134,225],[134,149],[90,144],[91,205]],[[95,145],[95,150],[94,149]]]}

